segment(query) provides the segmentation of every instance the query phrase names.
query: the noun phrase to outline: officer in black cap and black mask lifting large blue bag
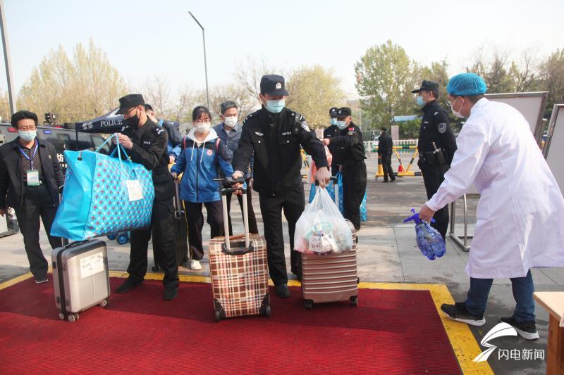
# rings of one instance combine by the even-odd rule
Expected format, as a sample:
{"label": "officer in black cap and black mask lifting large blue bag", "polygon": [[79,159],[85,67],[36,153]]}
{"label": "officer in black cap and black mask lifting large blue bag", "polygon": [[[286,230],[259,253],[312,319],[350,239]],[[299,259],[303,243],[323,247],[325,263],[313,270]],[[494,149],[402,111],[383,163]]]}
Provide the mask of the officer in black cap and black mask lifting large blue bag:
{"label": "officer in black cap and black mask lifting large blue bag", "polygon": [[[128,150],[135,163],[152,171],[154,184],[153,212],[151,226],[160,233],[159,241],[153,246],[161,249],[161,267],[164,269],[164,299],[171,300],[178,295],[178,263],[174,247],[174,181],[168,172],[168,134],[157,126],[145,113],[145,101],[140,94],[130,94],[119,99],[118,115],[123,115],[118,142]],[[131,231],[131,250],[128,267],[129,277],[116,289],[125,293],[142,283],[147,272],[147,247],[151,229]]]}

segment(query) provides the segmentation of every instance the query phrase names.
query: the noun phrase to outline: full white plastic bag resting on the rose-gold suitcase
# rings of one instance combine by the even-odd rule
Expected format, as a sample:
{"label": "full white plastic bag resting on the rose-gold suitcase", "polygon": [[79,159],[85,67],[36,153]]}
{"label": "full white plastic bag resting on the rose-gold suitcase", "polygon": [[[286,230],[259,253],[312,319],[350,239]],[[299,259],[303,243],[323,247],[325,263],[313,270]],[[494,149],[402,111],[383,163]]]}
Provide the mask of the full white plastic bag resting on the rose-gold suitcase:
{"label": "full white plastic bag resting on the rose-gold suitcase", "polygon": [[317,187],[312,203],[295,224],[294,250],[305,254],[342,253],[353,248],[353,234],[327,193]]}

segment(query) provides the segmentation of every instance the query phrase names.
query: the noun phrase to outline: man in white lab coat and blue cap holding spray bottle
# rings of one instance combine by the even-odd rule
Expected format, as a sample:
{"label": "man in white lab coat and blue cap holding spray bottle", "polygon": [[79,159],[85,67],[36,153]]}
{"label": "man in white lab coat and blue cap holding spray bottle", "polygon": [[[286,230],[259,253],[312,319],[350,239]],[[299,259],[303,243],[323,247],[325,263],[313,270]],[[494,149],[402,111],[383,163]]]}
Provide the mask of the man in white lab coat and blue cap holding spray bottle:
{"label": "man in white lab coat and blue cap holding spray bottle", "polygon": [[564,267],[564,198],[525,117],[508,104],[488,101],[482,77],[455,75],[446,89],[455,116],[468,118],[450,170],[419,217],[431,220],[472,184],[480,201],[466,266],[467,298],[441,310],[450,319],[482,326],[493,279],[510,278],[515,312],[501,321],[523,338],[539,338],[530,269]]}

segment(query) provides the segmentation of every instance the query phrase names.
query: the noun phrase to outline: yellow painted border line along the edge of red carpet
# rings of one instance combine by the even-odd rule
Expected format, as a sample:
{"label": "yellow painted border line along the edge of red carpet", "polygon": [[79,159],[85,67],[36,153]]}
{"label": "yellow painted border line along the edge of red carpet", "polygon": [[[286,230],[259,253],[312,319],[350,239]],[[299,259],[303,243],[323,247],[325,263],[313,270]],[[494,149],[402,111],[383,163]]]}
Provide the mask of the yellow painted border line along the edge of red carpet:
{"label": "yellow painted border line along the edge of red carpet", "polygon": [[[123,271],[110,271],[110,277],[128,277],[127,272]],[[8,288],[18,284],[20,281],[29,279],[32,274],[28,272],[21,276],[15,277],[14,279],[4,281],[0,284],[0,290]],[[147,273],[145,279],[147,280],[162,280],[163,274]],[[209,277],[196,276],[196,275],[179,275],[180,281],[192,282],[192,283],[209,283]],[[269,284],[272,281],[269,280]],[[288,286],[301,286],[302,284],[298,280],[289,280]],[[437,314],[441,318],[443,327],[446,331],[450,345],[452,345],[455,352],[460,368],[464,374],[494,374],[491,367],[487,362],[473,362],[474,358],[482,352],[480,349],[472,331],[467,324],[454,322],[453,320],[445,317],[443,312],[441,312],[441,305],[443,303],[453,304],[453,296],[450,295],[448,288],[444,284],[407,284],[407,283],[365,283],[362,282],[358,284],[359,288],[367,289],[384,289],[384,290],[396,290],[396,291],[429,291],[431,293],[431,298],[435,304]]]}

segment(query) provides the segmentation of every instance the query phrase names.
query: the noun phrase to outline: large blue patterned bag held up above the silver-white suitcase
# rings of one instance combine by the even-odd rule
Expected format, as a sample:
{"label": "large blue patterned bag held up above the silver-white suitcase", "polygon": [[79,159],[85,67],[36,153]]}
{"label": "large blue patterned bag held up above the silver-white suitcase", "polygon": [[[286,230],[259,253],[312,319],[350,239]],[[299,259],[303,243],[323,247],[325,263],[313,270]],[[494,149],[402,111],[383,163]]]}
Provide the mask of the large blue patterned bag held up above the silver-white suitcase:
{"label": "large blue patterned bag held up above the silver-white suitcase", "polygon": [[[118,156],[125,153],[121,146],[116,151]],[[151,171],[129,158],[95,151],[65,151],[64,156],[65,188],[51,235],[80,241],[149,227],[154,200]]]}

